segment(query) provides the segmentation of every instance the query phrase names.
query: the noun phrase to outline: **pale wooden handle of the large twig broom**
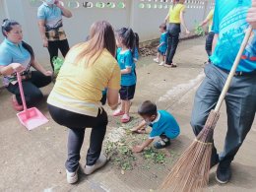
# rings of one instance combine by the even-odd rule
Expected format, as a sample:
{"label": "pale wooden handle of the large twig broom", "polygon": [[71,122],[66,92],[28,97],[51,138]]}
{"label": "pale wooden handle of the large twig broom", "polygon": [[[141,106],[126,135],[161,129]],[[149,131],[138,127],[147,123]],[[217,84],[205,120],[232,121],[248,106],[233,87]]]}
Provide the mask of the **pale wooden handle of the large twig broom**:
{"label": "pale wooden handle of the large twig broom", "polygon": [[247,43],[248,43],[248,41],[249,41],[251,32],[252,32],[252,28],[251,28],[251,26],[250,26],[250,27],[247,29],[247,32],[245,33],[245,36],[244,36],[244,38],[243,38],[242,44],[241,44],[241,46],[240,46],[240,49],[239,49],[239,51],[238,51],[238,53],[237,53],[237,55],[236,55],[236,58],[235,58],[235,60],[234,60],[234,62],[233,62],[233,65],[232,65],[232,68],[231,68],[231,70],[230,70],[230,72],[229,72],[229,75],[228,75],[228,77],[227,77],[227,79],[226,79],[226,81],[225,81],[224,89],[223,89],[222,94],[221,94],[221,96],[219,97],[219,100],[218,100],[217,105],[216,105],[216,107],[215,107],[215,112],[219,112],[220,109],[221,109],[221,106],[222,106],[222,104],[223,104],[223,102],[224,102],[224,96],[226,95],[226,93],[227,93],[227,91],[228,91],[228,88],[229,88],[229,86],[230,86],[230,84],[231,84],[231,81],[232,81],[232,78],[233,78],[233,76],[234,76],[234,74],[235,74],[236,68],[237,68],[237,66],[238,66],[238,64],[239,64],[239,62],[240,62],[242,53],[243,53],[243,51],[244,51],[244,49],[245,49],[245,47],[246,47],[246,45],[247,45]]}

